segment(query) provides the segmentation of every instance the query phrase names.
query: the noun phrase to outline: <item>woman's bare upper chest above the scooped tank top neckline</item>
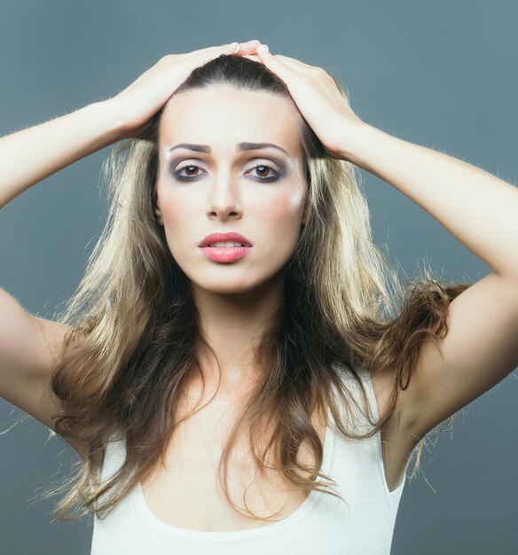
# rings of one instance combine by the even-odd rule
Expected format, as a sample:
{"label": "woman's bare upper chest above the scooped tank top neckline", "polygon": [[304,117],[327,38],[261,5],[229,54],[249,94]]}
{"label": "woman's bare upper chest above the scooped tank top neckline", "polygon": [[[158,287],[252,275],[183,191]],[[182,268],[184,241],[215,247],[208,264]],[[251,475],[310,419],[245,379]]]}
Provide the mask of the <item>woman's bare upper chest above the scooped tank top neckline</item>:
{"label": "woman's bare upper chest above the scooped tank top neckline", "polygon": [[[235,531],[268,526],[271,521],[240,514],[224,495],[224,469],[218,469],[238,407],[224,399],[213,400],[178,427],[169,445],[165,465],[157,467],[142,482],[145,503],[163,522],[177,528],[204,531]],[[326,422],[312,418],[324,444]],[[238,437],[228,458],[227,486],[232,502],[246,513],[281,520],[296,511],[307,497],[297,491],[278,471],[260,475],[251,454],[249,438]],[[314,464],[312,452],[302,445],[299,460]],[[267,459],[268,460],[268,459]],[[222,481],[218,477],[222,473]]]}

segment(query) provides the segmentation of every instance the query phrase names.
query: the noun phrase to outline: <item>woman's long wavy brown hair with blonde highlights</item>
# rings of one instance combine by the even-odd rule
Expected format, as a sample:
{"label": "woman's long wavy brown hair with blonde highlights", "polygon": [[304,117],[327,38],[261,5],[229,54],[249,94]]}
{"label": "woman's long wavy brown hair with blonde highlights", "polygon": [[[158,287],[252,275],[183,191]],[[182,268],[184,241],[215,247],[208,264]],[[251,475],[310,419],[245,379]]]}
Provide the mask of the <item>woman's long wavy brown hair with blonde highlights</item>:
{"label": "woman's long wavy brown hair with blonde highlights", "polygon": [[[349,101],[345,88],[334,82]],[[262,90],[294,103],[277,75],[237,55],[222,55],[196,68],[177,93],[218,84]],[[92,512],[105,518],[159,460],[163,463],[183,421],[177,421],[177,408],[185,387],[200,371],[194,346],[197,341],[208,346],[200,337],[190,282],[170,254],[154,213],[161,112],[142,136],[115,145],[105,160],[111,199],[106,226],[81,283],[58,317],[68,332],[51,375],[52,391],[62,407],[53,417],[55,431],[89,446],[76,472],[45,494],[65,493],[53,510],[58,520]],[[286,263],[284,304],[255,348],[261,375],[219,465],[224,495],[239,512],[227,489],[228,458],[240,426],[250,438],[264,436],[264,415],[274,426],[264,449],[252,442],[260,472],[271,468],[266,464],[271,455],[268,460],[297,489],[308,494],[318,489],[342,499],[334,492],[335,482],[321,473],[323,445],[311,414],[329,407],[337,431],[357,441],[381,430],[395,410],[399,390],[408,386],[420,343],[446,334],[449,303],[469,286],[441,283],[430,270],[400,281],[373,243],[354,165],[327,156],[302,117],[300,134],[307,220]],[[392,372],[390,403],[377,420],[368,409],[359,369]],[[342,371],[360,387],[372,426],[365,434],[358,434],[354,411],[342,410],[357,404],[341,379]],[[338,400],[331,394],[333,386]],[[111,480],[102,483],[107,443],[122,438],[126,459]],[[297,459],[302,442],[309,442],[315,465]],[[246,513],[259,518],[248,508]]]}

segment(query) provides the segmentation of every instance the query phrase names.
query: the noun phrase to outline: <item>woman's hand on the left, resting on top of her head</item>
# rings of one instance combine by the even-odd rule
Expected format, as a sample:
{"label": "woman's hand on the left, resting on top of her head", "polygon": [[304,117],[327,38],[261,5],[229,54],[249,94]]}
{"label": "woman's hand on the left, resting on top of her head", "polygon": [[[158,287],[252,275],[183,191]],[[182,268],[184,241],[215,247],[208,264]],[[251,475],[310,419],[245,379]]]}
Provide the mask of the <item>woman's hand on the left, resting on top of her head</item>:
{"label": "woman's hand on the left, resting on top of her head", "polygon": [[209,46],[185,54],[168,54],[129,87],[103,102],[118,114],[121,121],[121,138],[140,137],[153,115],[171,98],[175,90],[187,79],[192,70],[203,66],[221,54],[255,53],[258,40],[247,43]]}

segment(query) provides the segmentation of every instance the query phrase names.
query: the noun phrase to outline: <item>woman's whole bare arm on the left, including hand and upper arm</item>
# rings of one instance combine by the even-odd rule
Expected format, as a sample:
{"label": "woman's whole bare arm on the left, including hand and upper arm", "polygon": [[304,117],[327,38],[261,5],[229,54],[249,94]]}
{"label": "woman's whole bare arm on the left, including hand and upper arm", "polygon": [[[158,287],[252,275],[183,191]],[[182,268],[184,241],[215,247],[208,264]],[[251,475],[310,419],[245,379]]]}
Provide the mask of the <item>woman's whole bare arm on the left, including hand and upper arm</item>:
{"label": "woman's whole bare arm on the left, including hand and upper arm", "polygon": [[[0,207],[45,177],[123,138],[139,137],[192,70],[222,53],[254,51],[255,42],[167,55],[116,97],[0,137]],[[68,326],[35,317],[0,288],[0,397],[53,429],[59,400],[51,368]],[[87,446],[69,441],[84,458]]]}

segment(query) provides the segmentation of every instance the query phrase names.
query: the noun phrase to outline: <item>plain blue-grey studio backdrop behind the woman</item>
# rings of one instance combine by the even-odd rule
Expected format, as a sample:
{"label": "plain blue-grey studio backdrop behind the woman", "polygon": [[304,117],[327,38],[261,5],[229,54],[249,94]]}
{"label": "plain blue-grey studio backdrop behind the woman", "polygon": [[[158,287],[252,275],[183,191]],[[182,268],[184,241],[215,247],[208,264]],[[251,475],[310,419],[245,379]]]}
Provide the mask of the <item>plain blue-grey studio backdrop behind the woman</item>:
{"label": "plain blue-grey studio backdrop behind the woman", "polygon": [[[113,96],[168,52],[258,38],[337,76],[368,123],[515,183],[517,23],[513,0],[3,1],[0,133]],[[2,210],[0,286],[38,316],[51,318],[74,292],[105,223],[99,172],[107,153]],[[424,260],[459,281],[489,272],[410,199],[362,175],[374,239],[409,276]],[[451,438],[430,438],[423,472],[405,485],[392,553],[518,551],[517,395],[511,374],[459,413]],[[0,400],[1,430],[22,415]],[[85,521],[52,522],[51,502],[35,499],[74,458],[65,442],[48,438],[34,418],[0,435],[2,553],[90,552]]]}

